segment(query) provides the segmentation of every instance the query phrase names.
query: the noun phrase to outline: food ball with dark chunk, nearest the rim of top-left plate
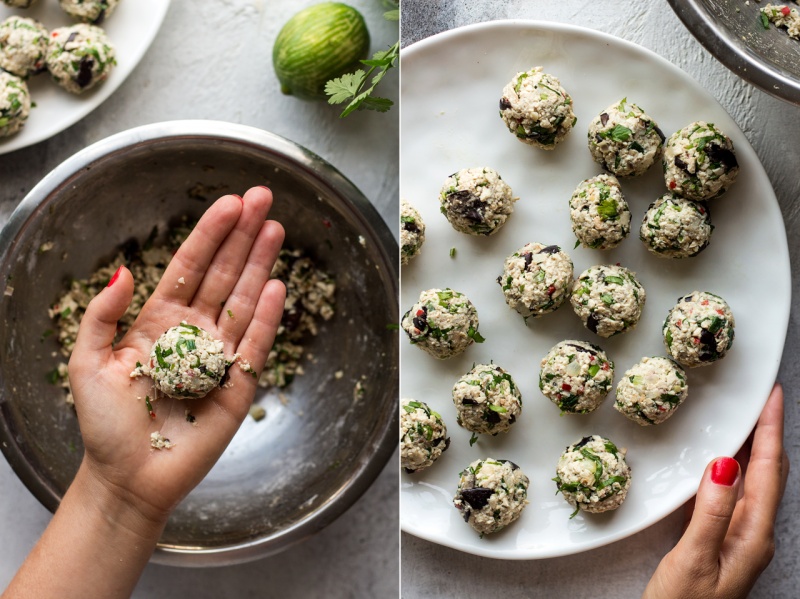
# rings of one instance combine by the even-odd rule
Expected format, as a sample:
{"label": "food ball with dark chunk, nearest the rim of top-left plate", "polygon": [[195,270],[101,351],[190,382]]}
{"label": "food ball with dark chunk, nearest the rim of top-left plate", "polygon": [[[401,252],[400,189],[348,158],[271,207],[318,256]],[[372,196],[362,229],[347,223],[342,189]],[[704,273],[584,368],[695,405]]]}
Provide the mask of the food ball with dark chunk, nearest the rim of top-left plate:
{"label": "food ball with dark chunk, nearest the rim of top-left plate", "polygon": [[53,81],[72,94],[81,94],[105,81],[117,64],[105,32],[79,23],[55,29],[47,49],[47,70]]}

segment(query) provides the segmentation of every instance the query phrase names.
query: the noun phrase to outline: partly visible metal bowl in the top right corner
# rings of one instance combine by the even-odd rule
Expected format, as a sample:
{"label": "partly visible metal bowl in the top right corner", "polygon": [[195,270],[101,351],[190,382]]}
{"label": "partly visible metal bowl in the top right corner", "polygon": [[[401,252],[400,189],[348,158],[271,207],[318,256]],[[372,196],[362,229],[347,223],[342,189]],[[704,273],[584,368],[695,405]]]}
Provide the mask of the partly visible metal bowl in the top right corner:
{"label": "partly visible metal bowl in the top right corner", "polygon": [[800,41],[773,24],[764,29],[759,8],[766,0],[669,3],[706,50],[731,71],[768,94],[800,104]]}

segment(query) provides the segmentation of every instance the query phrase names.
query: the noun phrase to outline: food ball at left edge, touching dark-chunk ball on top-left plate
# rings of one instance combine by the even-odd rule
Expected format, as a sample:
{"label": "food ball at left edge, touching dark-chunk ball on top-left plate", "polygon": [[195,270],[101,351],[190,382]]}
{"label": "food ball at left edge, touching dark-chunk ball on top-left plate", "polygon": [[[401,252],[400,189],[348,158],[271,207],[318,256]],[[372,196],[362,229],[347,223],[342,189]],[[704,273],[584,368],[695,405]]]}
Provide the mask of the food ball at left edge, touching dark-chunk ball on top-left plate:
{"label": "food ball at left edge, touching dark-chunk ball on top-left plate", "polygon": [[49,34],[33,19],[13,15],[0,23],[0,68],[23,79],[43,71]]}

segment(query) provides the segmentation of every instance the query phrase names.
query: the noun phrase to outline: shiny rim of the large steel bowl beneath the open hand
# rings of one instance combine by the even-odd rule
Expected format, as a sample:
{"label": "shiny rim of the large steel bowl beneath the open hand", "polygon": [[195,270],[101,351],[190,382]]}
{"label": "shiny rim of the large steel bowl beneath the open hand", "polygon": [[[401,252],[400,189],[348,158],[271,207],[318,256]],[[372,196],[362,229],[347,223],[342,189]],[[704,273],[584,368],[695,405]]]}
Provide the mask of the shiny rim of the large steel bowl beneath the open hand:
{"label": "shiny rim of the large steel bowl beneath the open hand", "polygon": [[[393,291],[397,296],[398,265],[390,259],[391,248],[395,248],[396,252],[397,242],[372,203],[351,181],[321,157],[284,137],[255,127],[212,120],[166,121],[136,127],[100,140],[66,159],[25,196],[0,231],[0,264],[6,262],[13,249],[12,244],[15,238],[40,204],[82,169],[91,168],[99,160],[140,144],[195,138],[241,144],[280,155],[324,182],[340,197],[352,203],[364,217],[369,230],[374,235],[374,241],[379,247],[383,264],[394,275],[392,277],[395,281]],[[2,401],[1,397],[0,401]],[[327,502],[307,517],[279,533],[264,539],[214,548],[187,548],[159,544],[151,561],[165,565],[189,567],[230,565],[283,551],[306,539],[326,527],[351,507],[381,472],[397,446],[396,414],[385,423],[383,430],[375,438],[377,447],[372,458],[361,460],[348,484],[338,494],[331,496]],[[13,434],[2,420],[0,420],[0,449],[28,490],[46,508],[54,512],[60,498],[52,492],[45,480],[28,467]]]}

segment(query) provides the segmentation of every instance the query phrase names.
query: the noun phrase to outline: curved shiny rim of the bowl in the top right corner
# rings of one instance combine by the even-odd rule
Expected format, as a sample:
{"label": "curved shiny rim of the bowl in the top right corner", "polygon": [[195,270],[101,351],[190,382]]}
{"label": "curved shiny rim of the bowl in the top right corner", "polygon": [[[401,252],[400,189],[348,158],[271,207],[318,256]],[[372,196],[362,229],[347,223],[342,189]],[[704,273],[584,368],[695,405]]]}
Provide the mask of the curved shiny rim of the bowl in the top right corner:
{"label": "curved shiny rim of the bowl in the top right corner", "polygon": [[800,81],[755,60],[741,40],[727,35],[702,0],[668,1],[697,41],[734,74],[776,98],[800,104]]}

